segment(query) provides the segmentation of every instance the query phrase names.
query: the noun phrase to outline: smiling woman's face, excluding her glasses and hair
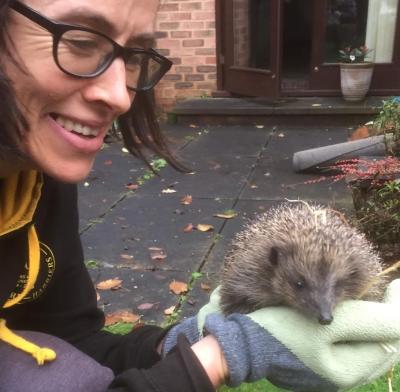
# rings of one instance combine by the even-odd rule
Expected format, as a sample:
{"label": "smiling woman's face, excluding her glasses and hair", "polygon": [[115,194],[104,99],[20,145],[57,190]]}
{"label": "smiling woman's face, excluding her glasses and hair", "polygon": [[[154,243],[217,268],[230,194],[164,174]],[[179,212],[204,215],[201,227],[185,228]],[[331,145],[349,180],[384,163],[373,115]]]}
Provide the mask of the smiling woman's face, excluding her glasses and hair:
{"label": "smiling woman's face, excluding her glasses and hair", "polygon": [[[23,2],[50,19],[89,27],[123,46],[152,43],[158,0]],[[55,64],[48,31],[10,10],[9,32],[22,67],[8,60],[6,72],[29,124],[23,145],[29,166],[61,181],[80,181],[89,173],[113,120],[134,98],[126,88],[124,62],[117,58],[93,79],[75,78]]]}

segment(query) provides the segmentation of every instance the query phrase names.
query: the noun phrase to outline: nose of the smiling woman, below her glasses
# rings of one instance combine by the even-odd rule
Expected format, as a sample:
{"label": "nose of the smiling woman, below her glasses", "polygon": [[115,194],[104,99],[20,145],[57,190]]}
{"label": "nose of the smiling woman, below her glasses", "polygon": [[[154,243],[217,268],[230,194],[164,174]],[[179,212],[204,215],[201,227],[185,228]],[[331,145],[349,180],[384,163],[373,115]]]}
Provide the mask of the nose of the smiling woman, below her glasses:
{"label": "nose of the smiling woman, below her glasses", "polygon": [[122,59],[115,59],[107,70],[90,80],[84,90],[88,101],[103,102],[115,115],[125,113],[131,107],[135,93],[126,87],[126,69]]}

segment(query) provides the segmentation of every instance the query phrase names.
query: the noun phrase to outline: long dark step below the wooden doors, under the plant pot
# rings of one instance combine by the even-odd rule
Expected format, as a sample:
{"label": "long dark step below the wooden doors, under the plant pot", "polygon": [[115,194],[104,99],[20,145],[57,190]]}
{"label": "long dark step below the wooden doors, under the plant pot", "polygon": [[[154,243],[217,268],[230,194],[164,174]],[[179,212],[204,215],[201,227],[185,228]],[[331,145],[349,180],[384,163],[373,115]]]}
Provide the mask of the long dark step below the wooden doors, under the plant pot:
{"label": "long dark step below the wooden doors, under the plant pot", "polygon": [[355,126],[372,120],[389,98],[367,97],[362,102],[342,97],[192,98],[178,103],[168,120],[175,124]]}

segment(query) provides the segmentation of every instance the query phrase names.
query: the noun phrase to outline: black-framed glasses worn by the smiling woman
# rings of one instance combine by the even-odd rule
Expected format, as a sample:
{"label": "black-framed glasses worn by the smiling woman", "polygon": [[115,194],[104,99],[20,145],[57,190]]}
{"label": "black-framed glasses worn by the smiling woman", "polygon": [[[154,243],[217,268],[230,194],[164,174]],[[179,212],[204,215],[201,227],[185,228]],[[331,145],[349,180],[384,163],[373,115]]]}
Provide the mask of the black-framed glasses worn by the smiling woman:
{"label": "black-framed glasses worn by the smiling woman", "polygon": [[127,87],[145,91],[153,88],[172,66],[170,60],[153,49],[125,48],[98,31],[50,20],[17,0],[10,7],[53,36],[54,61],[67,75],[94,78],[121,57]]}

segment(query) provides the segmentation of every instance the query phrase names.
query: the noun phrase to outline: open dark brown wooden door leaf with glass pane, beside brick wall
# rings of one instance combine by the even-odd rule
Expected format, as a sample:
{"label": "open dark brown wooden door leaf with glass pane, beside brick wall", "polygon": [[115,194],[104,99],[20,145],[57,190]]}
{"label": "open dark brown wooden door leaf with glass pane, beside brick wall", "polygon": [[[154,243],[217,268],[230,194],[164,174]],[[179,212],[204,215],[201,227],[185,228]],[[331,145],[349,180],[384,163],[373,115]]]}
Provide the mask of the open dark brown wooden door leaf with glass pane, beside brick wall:
{"label": "open dark brown wooden door leaf with glass pane, beside brick wall", "polygon": [[281,0],[223,0],[223,89],[233,94],[279,95]]}

